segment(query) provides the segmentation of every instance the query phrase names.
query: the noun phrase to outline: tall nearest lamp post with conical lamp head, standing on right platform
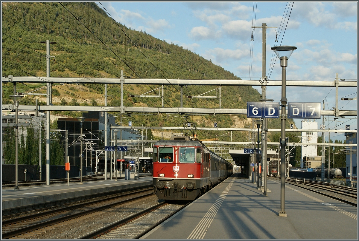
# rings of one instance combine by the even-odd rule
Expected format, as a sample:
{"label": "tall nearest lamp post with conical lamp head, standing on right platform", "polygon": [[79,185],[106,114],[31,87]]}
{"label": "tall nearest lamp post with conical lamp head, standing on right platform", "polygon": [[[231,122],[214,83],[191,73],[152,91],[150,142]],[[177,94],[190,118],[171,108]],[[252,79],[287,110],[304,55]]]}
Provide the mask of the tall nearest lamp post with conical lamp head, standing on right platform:
{"label": "tall nearest lamp post with conical lamp head, standing on right platform", "polygon": [[282,67],[282,98],[280,99],[281,103],[281,140],[280,140],[280,211],[279,216],[280,217],[286,217],[287,214],[284,211],[284,202],[285,202],[285,106],[287,105],[287,98],[285,97],[285,88],[286,88],[286,69],[285,67],[288,66],[288,59],[292,55],[293,51],[297,49],[295,46],[287,46],[287,45],[281,45],[281,46],[274,46],[271,48],[274,50],[275,54],[278,56],[280,60],[280,67]]}

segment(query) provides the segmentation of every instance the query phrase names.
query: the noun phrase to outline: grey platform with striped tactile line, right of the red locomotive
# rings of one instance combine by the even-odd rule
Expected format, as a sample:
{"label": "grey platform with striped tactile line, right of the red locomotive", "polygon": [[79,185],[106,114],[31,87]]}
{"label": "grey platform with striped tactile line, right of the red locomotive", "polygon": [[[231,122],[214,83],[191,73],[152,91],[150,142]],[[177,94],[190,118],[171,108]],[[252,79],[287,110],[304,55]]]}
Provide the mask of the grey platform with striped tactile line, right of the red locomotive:
{"label": "grey platform with striped tactile line, right of the red locomotive", "polygon": [[280,217],[280,180],[267,188],[233,174],[141,238],[358,240],[356,207],[286,183]]}

